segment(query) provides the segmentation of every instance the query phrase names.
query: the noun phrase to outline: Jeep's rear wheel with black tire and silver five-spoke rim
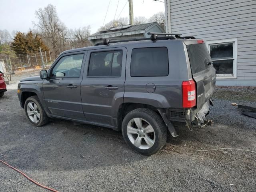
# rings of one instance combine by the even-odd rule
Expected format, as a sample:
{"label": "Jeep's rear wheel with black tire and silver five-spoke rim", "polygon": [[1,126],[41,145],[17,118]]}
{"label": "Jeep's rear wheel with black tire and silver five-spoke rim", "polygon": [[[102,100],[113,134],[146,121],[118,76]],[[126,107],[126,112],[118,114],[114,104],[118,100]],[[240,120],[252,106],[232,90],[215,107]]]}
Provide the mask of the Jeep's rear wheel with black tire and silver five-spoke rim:
{"label": "Jeep's rear wheel with black tire and silver five-spoke rim", "polygon": [[167,127],[156,112],[148,108],[138,108],[124,117],[122,135],[134,151],[152,155],[166,144]]}

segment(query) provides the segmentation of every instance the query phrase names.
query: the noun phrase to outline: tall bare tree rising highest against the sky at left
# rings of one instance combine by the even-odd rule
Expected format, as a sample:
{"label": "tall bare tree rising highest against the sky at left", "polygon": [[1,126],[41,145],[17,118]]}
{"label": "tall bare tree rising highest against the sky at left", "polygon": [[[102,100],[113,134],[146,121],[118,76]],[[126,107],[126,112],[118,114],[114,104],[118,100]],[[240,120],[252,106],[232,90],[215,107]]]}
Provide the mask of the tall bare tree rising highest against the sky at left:
{"label": "tall bare tree rising highest against the sky at left", "polygon": [[38,22],[32,22],[40,29],[40,35],[49,40],[55,56],[57,55],[58,35],[60,32],[60,20],[57,16],[56,7],[48,4],[44,9],[40,8],[35,12]]}

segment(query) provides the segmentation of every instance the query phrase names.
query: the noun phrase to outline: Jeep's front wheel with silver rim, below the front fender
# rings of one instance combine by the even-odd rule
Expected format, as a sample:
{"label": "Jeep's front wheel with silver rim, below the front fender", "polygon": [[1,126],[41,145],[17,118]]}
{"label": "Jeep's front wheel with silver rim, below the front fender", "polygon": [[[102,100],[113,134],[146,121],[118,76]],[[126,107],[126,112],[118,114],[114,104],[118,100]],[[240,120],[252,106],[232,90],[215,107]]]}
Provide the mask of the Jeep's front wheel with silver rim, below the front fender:
{"label": "Jeep's front wheel with silver rim, below the front fender", "polygon": [[40,127],[49,122],[49,117],[46,115],[37,96],[27,98],[24,108],[26,116],[32,125]]}

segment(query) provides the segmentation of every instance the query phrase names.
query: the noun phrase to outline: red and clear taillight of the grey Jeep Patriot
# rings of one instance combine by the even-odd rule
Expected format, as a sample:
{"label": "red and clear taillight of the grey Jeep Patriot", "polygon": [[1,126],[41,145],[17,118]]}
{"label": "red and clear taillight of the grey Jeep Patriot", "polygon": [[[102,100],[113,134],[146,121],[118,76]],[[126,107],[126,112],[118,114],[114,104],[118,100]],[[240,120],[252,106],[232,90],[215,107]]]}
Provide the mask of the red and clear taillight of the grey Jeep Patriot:
{"label": "red and clear taillight of the grey Jeep Patriot", "polygon": [[194,80],[182,82],[182,106],[183,108],[196,106],[196,84]]}

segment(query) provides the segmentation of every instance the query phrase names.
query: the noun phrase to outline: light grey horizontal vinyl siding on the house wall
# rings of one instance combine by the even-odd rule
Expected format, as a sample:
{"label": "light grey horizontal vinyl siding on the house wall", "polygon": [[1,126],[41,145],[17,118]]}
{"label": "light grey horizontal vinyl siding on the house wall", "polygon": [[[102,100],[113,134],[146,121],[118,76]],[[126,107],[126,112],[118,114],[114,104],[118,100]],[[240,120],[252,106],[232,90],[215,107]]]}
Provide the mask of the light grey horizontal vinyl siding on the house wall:
{"label": "light grey horizontal vinyl siding on the house wall", "polygon": [[236,80],[253,80],[256,86],[256,0],[169,1],[171,33],[205,41],[237,39]]}

